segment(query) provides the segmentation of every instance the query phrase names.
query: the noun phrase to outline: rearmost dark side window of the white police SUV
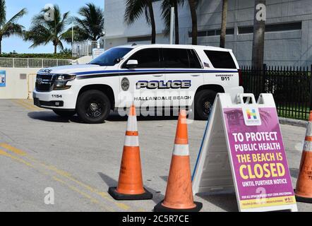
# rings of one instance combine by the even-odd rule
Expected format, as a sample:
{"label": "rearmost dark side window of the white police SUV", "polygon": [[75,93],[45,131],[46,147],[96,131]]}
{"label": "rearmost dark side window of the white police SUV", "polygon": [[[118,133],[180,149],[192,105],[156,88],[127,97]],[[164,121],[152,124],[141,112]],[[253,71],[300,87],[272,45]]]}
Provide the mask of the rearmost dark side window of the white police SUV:
{"label": "rearmost dark side window of the white police SUV", "polygon": [[234,60],[229,52],[204,50],[215,69],[236,69]]}

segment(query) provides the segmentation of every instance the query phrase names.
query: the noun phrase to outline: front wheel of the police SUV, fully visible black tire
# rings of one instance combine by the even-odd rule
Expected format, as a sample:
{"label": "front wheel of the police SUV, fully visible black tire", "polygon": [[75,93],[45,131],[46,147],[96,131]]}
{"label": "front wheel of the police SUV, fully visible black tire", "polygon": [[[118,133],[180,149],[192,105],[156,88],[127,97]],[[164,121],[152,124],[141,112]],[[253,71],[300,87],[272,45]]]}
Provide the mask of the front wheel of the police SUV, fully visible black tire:
{"label": "front wheel of the police SUV, fully visible black tire", "polygon": [[78,97],[78,117],[87,124],[103,123],[109,116],[111,103],[107,95],[99,90],[88,90]]}

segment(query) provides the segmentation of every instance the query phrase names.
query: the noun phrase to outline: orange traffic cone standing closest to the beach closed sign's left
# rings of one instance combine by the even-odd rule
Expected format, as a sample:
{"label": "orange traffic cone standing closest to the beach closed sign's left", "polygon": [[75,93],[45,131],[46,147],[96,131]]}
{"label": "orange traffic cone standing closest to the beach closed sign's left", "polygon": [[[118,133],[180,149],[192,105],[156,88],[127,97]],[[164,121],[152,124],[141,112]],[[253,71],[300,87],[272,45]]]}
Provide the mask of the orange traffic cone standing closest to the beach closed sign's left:
{"label": "orange traffic cone standing closest to the beach closed sign's left", "polygon": [[164,201],[155,206],[155,212],[198,212],[202,203],[194,203],[191,182],[190,157],[186,111],[181,110],[176,128],[176,139]]}

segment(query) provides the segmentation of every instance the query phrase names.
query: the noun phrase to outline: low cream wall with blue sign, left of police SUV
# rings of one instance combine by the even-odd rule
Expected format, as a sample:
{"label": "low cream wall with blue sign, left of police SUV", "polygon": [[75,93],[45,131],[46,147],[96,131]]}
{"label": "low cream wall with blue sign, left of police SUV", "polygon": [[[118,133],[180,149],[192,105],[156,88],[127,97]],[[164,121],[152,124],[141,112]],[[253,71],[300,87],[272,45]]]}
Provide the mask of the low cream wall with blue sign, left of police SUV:
{"label": "low cream wall with blue sign, left of police SUV", "polygon": [[[0,87],[0,99],[27,99],[28,89],[35,87],[35,75],[39,69],[0,68],[6,71],[6,87]],[[26,78],[20,74],[27,74]],[[23,76],[22,76],[23,77]]]}

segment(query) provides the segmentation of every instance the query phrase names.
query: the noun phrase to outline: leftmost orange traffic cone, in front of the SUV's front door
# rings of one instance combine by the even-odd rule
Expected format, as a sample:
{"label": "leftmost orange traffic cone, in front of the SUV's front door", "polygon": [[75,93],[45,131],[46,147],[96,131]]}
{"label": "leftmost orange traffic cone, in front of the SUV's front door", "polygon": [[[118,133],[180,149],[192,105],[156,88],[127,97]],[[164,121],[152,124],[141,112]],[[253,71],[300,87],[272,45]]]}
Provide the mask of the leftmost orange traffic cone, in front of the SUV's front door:
{"label": "leftmost orange traffic cone, in front of the SUV's front door", "polygon": [[118,186],[110,187],[108,192],[116,200],[152,199],[152,194],[143,188],[138,125],[134,105],[131,106],[128,116]]}

